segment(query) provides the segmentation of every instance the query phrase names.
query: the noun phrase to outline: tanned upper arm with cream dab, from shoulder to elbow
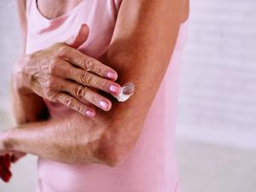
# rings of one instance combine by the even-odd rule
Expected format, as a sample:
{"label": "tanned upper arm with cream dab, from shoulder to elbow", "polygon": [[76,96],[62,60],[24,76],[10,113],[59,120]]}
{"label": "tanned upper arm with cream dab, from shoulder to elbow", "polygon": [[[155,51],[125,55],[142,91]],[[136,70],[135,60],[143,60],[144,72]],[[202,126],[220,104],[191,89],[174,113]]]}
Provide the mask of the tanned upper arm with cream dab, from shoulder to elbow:
{"label": "tanned upper arm with cream dab, from shoulder to elbow", "polygon": [[135,84],[135,94],[127,102],[114,103],[108,113],[108,129],[99,146],[100,154],[108,155],[113,162],[123,160],[143,128],[177,41],[183,20],[181,2],[122,1],[104,61],[119,73],[120,84]]}

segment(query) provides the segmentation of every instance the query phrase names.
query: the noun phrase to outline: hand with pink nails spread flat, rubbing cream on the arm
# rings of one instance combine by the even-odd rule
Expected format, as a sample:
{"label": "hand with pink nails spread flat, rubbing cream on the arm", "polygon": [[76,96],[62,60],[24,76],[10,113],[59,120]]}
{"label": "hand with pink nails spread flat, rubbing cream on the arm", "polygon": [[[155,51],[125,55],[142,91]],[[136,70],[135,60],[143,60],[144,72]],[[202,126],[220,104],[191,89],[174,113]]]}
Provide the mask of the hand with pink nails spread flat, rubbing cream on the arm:
{"label": "hand with pink nails spread flat, rubbing cream on the arm", "polygon": [[15,89],[25,95],[36,93],[90,117],[95,116],[90,103],[108,111],[112,103],[96,90],[118,95],[120,85],[113,82],[118,75],[77,50],[88,32],[88,27],[82,25],[77,36],[66,43],[54,44],[22,58],[15,66]]}

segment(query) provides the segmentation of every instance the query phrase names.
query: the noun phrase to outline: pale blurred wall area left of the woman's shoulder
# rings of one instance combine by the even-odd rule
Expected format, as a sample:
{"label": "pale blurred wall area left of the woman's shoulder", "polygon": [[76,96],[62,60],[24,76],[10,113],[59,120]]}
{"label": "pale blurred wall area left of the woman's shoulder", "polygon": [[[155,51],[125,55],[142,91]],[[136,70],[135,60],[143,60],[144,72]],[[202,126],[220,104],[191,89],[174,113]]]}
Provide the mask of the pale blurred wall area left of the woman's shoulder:
{"label": "pale blurred wall area left of the woman's shoulder", "polygon": [[20,55],[20,27],[15,0],[0,1],[0,108],[9,96],[9,79]]}

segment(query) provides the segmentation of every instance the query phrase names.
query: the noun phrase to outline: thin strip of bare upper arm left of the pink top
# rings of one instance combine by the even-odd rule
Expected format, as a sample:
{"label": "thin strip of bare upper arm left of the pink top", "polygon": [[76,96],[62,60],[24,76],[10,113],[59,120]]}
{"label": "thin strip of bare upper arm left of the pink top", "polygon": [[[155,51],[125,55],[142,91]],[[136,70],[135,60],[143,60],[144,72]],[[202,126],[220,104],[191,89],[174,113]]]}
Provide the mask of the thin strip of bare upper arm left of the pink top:
{"label": "thin strip of bare upper arm left of the pink top", "polygon": [[17,0],[17,9],[20,20],[20,32],[22,39],[22,54],[26,51],[26,0]]}

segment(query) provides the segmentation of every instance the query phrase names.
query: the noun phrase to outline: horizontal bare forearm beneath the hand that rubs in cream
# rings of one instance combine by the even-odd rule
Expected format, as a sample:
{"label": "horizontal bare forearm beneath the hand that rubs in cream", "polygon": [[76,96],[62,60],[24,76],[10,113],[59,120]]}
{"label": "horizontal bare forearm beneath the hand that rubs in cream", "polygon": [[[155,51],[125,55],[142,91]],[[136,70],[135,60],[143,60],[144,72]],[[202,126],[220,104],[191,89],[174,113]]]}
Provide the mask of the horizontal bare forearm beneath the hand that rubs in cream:
{"label": "horizontal bare forearm beneath the hand that rubs in cream", "polygon": [[[98,120],[104,121],[101,117]],[[108,164],[97,150],[98,141],[107,125],[70,112],[65,118],[19,125],[8,131],[7,146],[9,150],[61,163]]]}

